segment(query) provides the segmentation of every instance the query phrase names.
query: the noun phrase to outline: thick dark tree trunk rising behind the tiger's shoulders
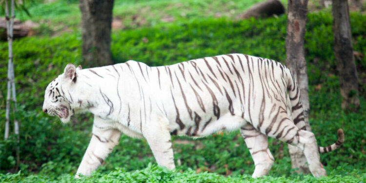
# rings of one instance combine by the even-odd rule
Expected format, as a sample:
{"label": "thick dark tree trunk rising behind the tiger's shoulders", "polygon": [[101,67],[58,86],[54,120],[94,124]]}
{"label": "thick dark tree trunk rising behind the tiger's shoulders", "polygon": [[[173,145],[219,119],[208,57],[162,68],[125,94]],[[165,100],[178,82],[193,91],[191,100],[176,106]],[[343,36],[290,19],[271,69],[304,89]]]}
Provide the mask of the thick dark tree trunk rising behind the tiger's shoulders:
{"label": "thick dark tree trunk rising behind the tiger's shoulders", "polygon": [[80,0],[82,58],[87,66],[113,64],[111,27],[114,0]]}

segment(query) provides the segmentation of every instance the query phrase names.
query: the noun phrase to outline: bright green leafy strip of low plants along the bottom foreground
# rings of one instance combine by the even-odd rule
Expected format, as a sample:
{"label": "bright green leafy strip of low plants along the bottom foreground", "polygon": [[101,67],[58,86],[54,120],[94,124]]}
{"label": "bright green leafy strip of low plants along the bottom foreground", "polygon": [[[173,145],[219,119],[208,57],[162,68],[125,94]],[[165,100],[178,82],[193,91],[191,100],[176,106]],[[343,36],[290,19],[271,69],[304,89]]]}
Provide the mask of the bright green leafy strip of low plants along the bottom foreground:
{"label": "bright green leafy strip of low plants along the bottom foreground", "polygon": [[332,171],[327,177],[319,179],[310,175],[265,176],[253,179],[249,175],[224,177],[215,173],[196,173],[191,169],[185,172],[172,172],[165,167],[148,164],[147,168],[132,172],[126,172],[122,168],[116,168],[106,174],[95,172],[91,177],[82,177],[81,180],[75,180],[73,175],[70,174],[52,179],[45,175],[24,177],[18,173],[0,175],[0,181],[1,183],[363,183],[366,181],[366,174],[353,171],[348,175],[339,175],[337,171]]}

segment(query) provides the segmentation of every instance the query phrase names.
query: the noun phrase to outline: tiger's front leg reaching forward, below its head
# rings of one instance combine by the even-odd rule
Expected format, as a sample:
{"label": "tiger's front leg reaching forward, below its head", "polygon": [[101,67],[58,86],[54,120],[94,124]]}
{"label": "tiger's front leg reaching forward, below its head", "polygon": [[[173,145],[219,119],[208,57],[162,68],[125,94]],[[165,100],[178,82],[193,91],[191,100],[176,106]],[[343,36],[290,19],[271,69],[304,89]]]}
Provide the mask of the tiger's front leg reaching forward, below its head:
{"label": "tiger's front leg reaching forward, below its head", "polygon": [[103,129],[96,124],[96,121],[98,121],[97,117],[94,119],[93,135],[76,172],[76,178],[79,178],[79,174],[87,176],[96,170],[120,140],[120,131]]}

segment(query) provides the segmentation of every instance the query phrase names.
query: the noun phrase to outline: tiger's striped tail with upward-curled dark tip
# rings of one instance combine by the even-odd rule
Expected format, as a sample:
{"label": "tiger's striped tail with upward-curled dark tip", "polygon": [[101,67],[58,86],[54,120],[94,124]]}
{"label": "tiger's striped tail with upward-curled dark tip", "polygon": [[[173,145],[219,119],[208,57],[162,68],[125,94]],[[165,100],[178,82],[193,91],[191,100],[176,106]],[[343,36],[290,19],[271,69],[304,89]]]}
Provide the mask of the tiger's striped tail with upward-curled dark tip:
{"label": "tiger's striped tail with upward-curled dark tip", "polygon": [[[287,74],[287,91],[291,102],[291,111],[292,117],[295,125],[302,130],[306,130],[305,120],[304,120],[304,109],[303,104],[301,102],[300,97],[300,89],[297,81],[294,76],[291,74],[289,69],[286,69]],[[343,130],[340,128],[337,131],[338,140],[326,147],[318,146],[318,150],[320,153],[326,153],[333,151],[340,146],[342,146],[343,142],[345,142],[345,134]]]}

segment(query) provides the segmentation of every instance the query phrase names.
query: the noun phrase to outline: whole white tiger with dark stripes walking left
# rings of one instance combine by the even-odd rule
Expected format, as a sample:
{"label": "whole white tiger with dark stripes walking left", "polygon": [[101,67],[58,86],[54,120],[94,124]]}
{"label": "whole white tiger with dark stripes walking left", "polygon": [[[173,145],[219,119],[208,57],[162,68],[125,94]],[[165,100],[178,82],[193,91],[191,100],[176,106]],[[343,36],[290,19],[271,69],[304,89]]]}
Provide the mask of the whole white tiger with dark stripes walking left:
{"label": "whole white tiger with dark stripes walking left", "polygon": [[[326,176],[318,147],[306,131],[300,91],[283,64],[243,54],[229,54],[149,67],[138,61],[76,68],[45,91],[43,111],[68,122],[70,116],[94,114],[93,136],[77,175],[90,175],[118,144],[121,133],[144,138],[159,165],[174,169],[171,135],[203,137],[240,129],[255,164],[252,177],[268,173],[274,158],[267,137],[290,143],[305,153],[315,177]],[[319,152],[318,152],[319,151]]]}

